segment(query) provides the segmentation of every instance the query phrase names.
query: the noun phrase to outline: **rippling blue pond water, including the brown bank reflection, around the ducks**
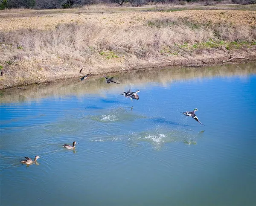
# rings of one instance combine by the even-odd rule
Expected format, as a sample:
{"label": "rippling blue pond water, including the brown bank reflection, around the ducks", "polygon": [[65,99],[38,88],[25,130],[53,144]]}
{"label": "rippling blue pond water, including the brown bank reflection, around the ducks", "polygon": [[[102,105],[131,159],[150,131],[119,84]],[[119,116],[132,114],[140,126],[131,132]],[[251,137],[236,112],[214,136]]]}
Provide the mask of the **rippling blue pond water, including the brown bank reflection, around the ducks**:
{"label": "rippling blue pond water, including the brown bank reflection, around the ducks", "polygon": [[114,79],[0,91],[1,206],[256,205],[256,62]]}

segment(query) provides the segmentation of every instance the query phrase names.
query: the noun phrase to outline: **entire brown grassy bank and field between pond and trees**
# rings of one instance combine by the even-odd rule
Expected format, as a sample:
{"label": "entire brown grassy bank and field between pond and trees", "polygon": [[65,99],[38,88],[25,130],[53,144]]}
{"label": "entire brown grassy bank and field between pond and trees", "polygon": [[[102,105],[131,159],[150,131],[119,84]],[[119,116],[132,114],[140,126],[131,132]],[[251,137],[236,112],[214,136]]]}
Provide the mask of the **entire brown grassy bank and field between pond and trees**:
{"label": "entire brown grassy bank and field between pond and trees", "polygon": [[0,88],[78,78],[81,68],[103,74],[217,63],[238,54],[256,59],[253,5],[90,8],[1,12]]}

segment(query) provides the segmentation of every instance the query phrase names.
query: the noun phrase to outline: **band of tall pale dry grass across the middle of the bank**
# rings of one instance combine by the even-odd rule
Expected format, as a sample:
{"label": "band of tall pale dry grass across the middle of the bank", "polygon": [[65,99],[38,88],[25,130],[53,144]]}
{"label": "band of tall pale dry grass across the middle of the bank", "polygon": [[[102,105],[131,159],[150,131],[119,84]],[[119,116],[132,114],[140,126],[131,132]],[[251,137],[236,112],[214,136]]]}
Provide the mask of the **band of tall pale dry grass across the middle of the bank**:
{"label": "band of tall pale dry grass across the middle of the bank", "polygon": [[[184,18],[165,18],[145,22],[140,26],[104,27],[95,24],[62,24],[55,29],[41,31],[23,29],[2,32],[0,42],[8,48],[30,55],[55,54],[88,57],[94,52],[113,51],[117,55],[135,55],[149,59],[177,49],[186,50],[207,41],[253,42],[256,28],[248,25],[200,24]],[[184,46],[184,44],[186,44]],[[182,46],[183,45],[183,46]],[[11,51],[10,50],[10,51]]]}

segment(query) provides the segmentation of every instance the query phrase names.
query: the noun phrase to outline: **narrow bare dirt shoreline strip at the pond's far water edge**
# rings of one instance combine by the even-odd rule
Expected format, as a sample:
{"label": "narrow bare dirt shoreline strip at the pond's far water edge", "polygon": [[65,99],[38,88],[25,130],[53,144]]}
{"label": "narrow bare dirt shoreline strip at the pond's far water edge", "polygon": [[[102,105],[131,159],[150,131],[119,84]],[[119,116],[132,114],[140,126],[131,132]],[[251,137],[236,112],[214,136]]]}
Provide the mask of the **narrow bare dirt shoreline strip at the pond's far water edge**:
{"label": "narrow bare dirt shoreline strip at the pond's far water edge", "polygon": [[[236,55],[233,55],[236,56]],[[170,61],[164,61],[164,62],[155,62],[155,63],[148,63],[148,64],[140,64],[136,65],[134,67],[131,67],[130,65],[122,65],[118,67],[112,67],[112,68],[105,68],[105,72],[100,72],[97,71],[97,68],[95,67],[90,67],[90,71],[95,76],[96,78],[99,77],[100,75],[103,74],[117,74],[117,73],[129,73],[130,71],[134,70],[157,70],[159,67],[210,67],[210,66],[215,66],[215,65],[221,65],[221,64],[230,64],[230,63],[243,63],[243,62],[248,62],[248,61],[256,61],[256,52],[253,52],[253,54],[246,55],[246,58],[249,58],[249,60],[246,59],[241,59],[241,58],[235,58],[232,61],[228,62],[222,62],[223,60],[227,60],[230,58],[230,54],[225,54],[221,56],[215,56],[215,57],[209,57],[209,58],[191,58],[191,59],[173,59]],[[87,73],[87,69],[84,68],[85,73]],[[4,72],[4,71],[3,71]],[[89,72],[89,70],[88,70]],[[82,75],[82,76],[83,76]],[[3,75],[5,77],[5,74]],[[44,84],[44,83],[54,83],[58,81],[63,81],[67,79],[78,79],[81,78],[79,74],[79,70],[74,70],[72,74],[67,76],[67,74],[63,75],[54,75],[52,76],[52,71],[49,72],[48,78],[38,78],[38,77],[33,77],[33,78],[27,78],[23,81],[16,81],[16,84],[6,84],[6,82],[11,81],[11,76],[8,75],[8,77],[4,79],[3,77],[1,78],[0,82],[0,90],[5,90],[8,88],[15,88],[15,87],[22,87],[22,86],[29,86],[32,84]],[[86,80],[84,80],[86,81]]]}

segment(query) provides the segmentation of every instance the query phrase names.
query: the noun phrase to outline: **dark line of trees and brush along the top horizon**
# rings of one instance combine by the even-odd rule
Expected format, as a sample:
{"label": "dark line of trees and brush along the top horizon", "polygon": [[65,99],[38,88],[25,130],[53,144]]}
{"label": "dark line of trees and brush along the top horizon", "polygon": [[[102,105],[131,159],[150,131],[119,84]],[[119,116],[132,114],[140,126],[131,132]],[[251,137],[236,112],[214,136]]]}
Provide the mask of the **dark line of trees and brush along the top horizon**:
{"label": "dark line of trees and brush along the top horizon", "polygon": [[[68,9],[98,3],[112,3],[123,6],[125,3],[131,6],[142,6],[149,3],[205,3],[214,4],[227,2],[228,0],[0,0],[0,9],[27,8],[27,9]],[[256,0],[229,0],[230,3],[253,4]]]}

